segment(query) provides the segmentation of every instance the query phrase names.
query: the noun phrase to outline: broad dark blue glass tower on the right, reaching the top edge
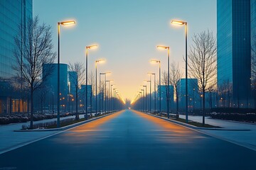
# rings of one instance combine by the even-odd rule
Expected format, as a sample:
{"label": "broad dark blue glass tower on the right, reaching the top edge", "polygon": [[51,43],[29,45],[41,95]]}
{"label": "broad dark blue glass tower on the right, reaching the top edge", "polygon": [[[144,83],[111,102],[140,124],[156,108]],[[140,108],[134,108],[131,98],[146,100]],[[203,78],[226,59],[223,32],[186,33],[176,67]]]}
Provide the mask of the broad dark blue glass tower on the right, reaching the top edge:
{"label": "broad dark blue glass tower on the right, reaching the top edge", "polygon": [[250,97],[251,24],[250,0],[217,1],[218,86],[233,86],[233,106]]}

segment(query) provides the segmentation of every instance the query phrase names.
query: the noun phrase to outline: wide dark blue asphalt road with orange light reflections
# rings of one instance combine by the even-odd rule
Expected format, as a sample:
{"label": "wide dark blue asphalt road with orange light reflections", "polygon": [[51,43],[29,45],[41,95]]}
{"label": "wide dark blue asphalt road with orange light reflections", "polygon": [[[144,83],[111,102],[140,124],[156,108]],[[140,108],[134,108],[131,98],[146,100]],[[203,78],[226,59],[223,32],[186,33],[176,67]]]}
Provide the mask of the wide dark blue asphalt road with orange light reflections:
{"label": "wide dark blue asphalt road with orange light reflections", "polygon": [[0,155],[1,169],[256,169],[256,152],[122,111]]}

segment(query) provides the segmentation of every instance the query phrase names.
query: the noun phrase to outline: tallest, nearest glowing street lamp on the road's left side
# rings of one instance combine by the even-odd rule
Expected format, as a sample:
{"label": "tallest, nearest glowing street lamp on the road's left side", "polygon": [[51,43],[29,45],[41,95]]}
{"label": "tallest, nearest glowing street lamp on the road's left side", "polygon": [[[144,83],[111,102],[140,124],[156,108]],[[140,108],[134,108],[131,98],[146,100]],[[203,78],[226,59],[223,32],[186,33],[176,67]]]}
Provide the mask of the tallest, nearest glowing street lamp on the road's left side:
{"label": "tallest, nearest glowing street lamp on the road's left side", "polygon": [[57,128],[60,128],[60,25],[69,26],[73,24],[75,24],[75,21],[58,22]]}

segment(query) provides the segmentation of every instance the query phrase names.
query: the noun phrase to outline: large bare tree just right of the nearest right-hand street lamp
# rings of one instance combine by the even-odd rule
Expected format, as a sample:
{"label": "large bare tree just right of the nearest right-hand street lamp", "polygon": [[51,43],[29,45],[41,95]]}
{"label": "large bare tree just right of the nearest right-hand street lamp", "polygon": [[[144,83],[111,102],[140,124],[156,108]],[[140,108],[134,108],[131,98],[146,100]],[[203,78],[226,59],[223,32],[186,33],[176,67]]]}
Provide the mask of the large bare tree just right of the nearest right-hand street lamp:
{"label": "large bare tree just right of the nearest right-hand street lamp", "polygon": [[214,81],[217,72],[216,39],[213,33],[203,31],[194,35],[188,55],[190,76],[198,79],[198,86],[203,93],[203,125],[205,124],[206,88]]}

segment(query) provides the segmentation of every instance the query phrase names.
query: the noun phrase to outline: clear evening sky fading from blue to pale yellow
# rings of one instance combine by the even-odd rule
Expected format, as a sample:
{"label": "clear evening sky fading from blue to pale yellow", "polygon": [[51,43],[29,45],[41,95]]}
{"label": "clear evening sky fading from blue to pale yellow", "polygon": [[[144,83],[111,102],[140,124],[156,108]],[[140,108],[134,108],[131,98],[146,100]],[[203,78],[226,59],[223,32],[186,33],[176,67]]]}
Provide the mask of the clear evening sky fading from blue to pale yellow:
{"label": "clear evening sky fading from blue to pale yellow", "polygon": [[107,79],[129,100],[146,85],[148,72],[158,77],[159,67],[150,60],[161,60],[166,71],[167,51],[156,45],[170,46],[170,62],[184,72],[184,27],[171,25],[172,19],[188,22],[188,48],[193,35],[203,30],[216,35],[217,27],[215,0],[33,0],[36,15],[52,27],[56,51],[57,23],[75,20],[75,26],[60,28],[60,62],[85,63],[85,47],[99,45],[89,51],[89,72],[95,74],[95,60],[105,59],[98,73],[112,72]]}

